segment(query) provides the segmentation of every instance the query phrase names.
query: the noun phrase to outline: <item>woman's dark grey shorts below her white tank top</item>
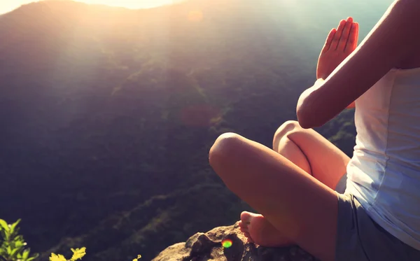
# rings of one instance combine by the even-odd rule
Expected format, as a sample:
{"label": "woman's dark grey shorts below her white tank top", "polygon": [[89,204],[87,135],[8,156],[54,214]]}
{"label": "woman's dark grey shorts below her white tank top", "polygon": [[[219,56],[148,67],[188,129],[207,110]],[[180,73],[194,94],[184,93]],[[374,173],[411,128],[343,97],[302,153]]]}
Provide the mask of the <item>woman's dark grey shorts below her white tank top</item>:
{"label": "woman's dark grey shorts below her white tank top", "polygon": [[377,225],[356,197],[343,194],[346,176],[335,189],[338,192],[335,261],[420,261],[420,251]]}

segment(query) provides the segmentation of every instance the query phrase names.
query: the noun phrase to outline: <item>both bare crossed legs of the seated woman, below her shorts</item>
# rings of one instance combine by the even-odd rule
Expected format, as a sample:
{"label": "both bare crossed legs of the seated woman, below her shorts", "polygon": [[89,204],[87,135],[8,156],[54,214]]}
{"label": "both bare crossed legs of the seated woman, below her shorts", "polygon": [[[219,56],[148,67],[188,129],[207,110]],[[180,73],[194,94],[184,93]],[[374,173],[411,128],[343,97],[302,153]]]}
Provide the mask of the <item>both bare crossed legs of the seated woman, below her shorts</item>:
{"label": "both bare crossed legs of the seated woman, below her shorts", "polygon": [[[209,160],[225,185],[262,214],[242,213],[249,215],[249,227],[260,224],[254,227],[259,226],[261,239],[274,245],[293,242],[320,260],[334,260],[337,194],[332,188],[349,158],[314,130],[291,121],[276,132],[273,147],[223,134]],[[252,231],[245,233],[257,240]]]}

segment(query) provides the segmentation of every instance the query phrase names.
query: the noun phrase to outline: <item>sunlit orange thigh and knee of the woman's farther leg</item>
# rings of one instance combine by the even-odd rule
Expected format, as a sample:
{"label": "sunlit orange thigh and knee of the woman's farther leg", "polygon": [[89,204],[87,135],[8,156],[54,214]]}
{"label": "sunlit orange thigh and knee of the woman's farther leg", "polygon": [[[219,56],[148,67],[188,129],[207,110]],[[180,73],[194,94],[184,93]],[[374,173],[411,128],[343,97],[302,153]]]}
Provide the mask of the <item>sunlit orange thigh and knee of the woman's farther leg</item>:
{"label": "sunlit orange thigh and knee of the woman's farther leg", "polygon": [[284,136],[302,150],[309,162],[312,176],[335,189],[346,173],[349,156],[314,129],[303,129],[296,121],[285,122],[277,129],[273,139],[275,151],[279,152],[279,143]]}

